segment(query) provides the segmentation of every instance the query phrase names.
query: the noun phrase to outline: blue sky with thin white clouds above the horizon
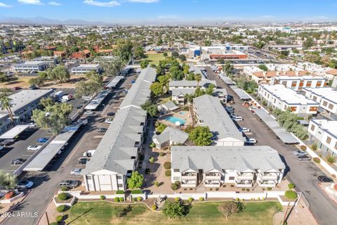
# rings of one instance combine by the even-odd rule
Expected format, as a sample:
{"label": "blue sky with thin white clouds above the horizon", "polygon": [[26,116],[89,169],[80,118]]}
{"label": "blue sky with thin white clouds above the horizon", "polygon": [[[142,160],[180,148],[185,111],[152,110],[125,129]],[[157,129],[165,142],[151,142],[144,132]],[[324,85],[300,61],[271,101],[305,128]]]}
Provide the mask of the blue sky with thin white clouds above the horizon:
{"label": "blue sky with thin white clouds above the horizon", "polygon": [[337,21],[337,0],[0,0],[3,18],[109,23]]}

